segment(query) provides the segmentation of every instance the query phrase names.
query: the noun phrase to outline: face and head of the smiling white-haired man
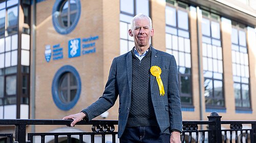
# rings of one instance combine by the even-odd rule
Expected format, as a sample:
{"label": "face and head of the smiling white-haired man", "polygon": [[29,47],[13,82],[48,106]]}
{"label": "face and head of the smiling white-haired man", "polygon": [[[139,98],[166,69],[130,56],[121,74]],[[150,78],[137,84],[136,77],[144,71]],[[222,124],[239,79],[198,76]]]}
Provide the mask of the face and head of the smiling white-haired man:
{"label": "face and head of the smiling white-haired man", "polygon": [[135,19],[133,30],[129,30],[129,35],[134,37],[135,46],[149,46],[150,37],[154,35],[154,29],[150,28],[150,21],[146,18]]}

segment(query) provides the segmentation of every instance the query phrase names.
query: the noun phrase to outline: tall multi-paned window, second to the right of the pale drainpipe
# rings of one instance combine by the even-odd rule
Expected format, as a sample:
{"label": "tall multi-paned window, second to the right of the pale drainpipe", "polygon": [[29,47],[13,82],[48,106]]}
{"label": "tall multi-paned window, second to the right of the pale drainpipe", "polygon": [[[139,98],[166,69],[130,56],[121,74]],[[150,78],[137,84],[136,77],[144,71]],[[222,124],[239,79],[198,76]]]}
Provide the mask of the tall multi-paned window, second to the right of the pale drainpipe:
{"label": "tall multi-paned window, second to the right of the pale drainpipe", "polygon": [[245,28],[245,25],[232,21],[231,48],[236,109],[248,109],[251,107],[249,94],[249,63]]}

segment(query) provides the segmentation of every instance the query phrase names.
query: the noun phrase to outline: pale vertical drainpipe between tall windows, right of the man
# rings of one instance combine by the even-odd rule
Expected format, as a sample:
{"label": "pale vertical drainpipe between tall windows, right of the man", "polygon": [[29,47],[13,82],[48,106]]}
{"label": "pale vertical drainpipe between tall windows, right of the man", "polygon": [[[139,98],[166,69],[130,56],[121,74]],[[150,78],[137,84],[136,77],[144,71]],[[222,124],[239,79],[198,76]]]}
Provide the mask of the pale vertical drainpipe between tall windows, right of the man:
{"label": "pale vertical drainpipe between tall windows, right of the man", "polygon": [[[200,9],[199,7],[197,7],[197,44],[198,44],[198,74],[199,74],[199,106],[200,106],[200,121],[203,120],[203,107],[202,107],[202,103],[203,103],[203,99],[202,99],[202,73],[201,73],[201,39],[200,39],[200,33],[199,33],[199,13],[200,13]],[[203,126],[201,125],[201,130],[203,129]]]}

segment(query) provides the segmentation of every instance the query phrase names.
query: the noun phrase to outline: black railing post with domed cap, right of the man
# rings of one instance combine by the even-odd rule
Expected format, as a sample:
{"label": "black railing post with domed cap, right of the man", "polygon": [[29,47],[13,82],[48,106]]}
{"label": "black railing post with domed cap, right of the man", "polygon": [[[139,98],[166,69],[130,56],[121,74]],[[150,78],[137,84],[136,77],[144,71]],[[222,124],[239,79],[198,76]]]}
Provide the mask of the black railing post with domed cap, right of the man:
{"label": "black railing post with domed cap, right of the man", "polygon": [[209,130],[211,130],[208,135],[209,143],[222,143],[221,116],[217,112],[211,112],[207,118],[215,122],[215,125],[209,125]]}

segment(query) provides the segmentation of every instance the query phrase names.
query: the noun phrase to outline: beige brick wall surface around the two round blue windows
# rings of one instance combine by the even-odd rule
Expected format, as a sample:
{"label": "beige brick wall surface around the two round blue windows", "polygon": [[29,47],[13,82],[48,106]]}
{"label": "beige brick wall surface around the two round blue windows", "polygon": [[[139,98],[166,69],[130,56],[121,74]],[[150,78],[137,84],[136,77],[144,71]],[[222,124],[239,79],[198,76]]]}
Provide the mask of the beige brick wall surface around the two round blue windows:
{"label": "beige brick wall surface around the two round blue windows", "polygon": [[[103,3],[102,1],[81,1],[81,15],[75,30],[67,35],[58,34],[52,24],[52,7],[54,1],[44,1],[37,4],[37,28],[36,28],[36,119],[62,119],[64,116],[81,111],[97,100],[104,88],[104,36],[103,36]],[[51,10],[49,10],[49,8]],[[108,13],[108,10],[105,10]],[[104,13],[104,15],[109,15]],[[111,22],[112,20],[110,20]],[[111,25],[111,24],[110,24]],[[109,26],[110,28],[111,26]],[[107,28],[106,28],[107,29]],[[98,36],[95,41],[96,52],[68,58],[68,41],[75,38],[88,38]],[[108,36],[105,36],[105,38]],[[45,46],[60,44],[63,48],[63,59],[45,60]],[[118,43],[117,43],[118,44]],[[108,55],[109,56],[109,55]],[[113,59],[113,56],[110,57]],[[106,58],[107,60],[107,58]],[[59,109],[52,98],[52,81],[57,70],[71,65],[79,73],[81,78],[81,94],[77,104],[68,111]],[[110,65],[110,62],[106,65]],[[109,67],[109,66],[108,66]],[[109,69],[109,68],[108,68]],[[106,76],[107,78],[107,76]],[[117,113],[117,112],[116,112]],[[110,119],[116,119],[117,114],[111,113]],[[100,119],[100,118],[98,118]],[[36,131],[51,131],[56,127],[36,128]],[[84,129],[84,127],[83,127]]]}

